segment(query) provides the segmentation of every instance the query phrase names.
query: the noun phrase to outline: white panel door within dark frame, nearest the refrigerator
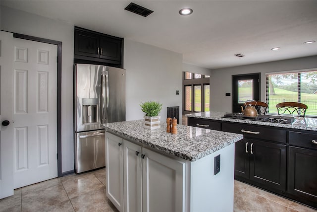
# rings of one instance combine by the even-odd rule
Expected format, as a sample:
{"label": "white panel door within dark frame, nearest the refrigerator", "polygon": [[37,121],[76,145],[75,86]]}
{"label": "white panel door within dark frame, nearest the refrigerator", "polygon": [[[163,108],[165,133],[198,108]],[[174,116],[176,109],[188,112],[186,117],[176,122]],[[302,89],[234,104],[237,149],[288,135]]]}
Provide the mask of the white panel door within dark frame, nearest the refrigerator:
{"label": "white panel door within dark frame, nearest the refrigerator", "polygon": [[13,143],[14,188],[20,188],[57,177],[57,46],[14,38],[11,48],[13,67],[3,70],[1,87],[12,90],[5,101],[12,111],[1,113],[12,123],[1,140]]}

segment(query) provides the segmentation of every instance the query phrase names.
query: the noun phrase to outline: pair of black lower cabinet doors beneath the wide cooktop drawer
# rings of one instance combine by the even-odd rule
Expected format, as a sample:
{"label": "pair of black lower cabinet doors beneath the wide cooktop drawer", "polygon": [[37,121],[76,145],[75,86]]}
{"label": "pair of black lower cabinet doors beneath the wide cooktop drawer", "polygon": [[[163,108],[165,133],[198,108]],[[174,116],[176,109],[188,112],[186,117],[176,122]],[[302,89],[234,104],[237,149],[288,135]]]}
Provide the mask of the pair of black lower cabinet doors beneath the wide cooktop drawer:
{"label": "pair of black lower cabinet doors beneath the wide cooktop drawer", "polygon": [[236,178],[257,182],[265,188],[286,190],[286,145],[243,139],[235,143]]}

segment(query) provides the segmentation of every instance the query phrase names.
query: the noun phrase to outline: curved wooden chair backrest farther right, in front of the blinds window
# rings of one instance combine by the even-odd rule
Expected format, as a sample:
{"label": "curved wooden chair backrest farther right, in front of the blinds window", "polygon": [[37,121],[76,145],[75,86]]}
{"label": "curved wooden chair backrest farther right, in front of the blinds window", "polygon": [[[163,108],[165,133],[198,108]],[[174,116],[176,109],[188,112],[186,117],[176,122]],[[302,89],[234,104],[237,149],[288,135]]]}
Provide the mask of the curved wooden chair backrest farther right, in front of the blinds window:
{"label": "curved wooden chair backrest farther right, in front of the blinds window", "polygon": [[292,114],[305,117],[308,106],[299,102],[281,102],[276,105],[278,115]]}

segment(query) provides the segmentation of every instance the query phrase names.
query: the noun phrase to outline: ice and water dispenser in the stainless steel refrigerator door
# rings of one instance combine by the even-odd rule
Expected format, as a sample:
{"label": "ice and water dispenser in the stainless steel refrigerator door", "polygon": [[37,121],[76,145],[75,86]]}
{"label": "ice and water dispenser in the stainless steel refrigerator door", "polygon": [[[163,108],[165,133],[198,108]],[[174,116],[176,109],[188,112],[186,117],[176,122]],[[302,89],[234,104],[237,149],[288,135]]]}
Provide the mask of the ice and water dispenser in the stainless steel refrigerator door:
{"label": "ice and water dispenser in the stainless steel refrigerator door", "polygon": [[99,122],[98,119],[99,98],[83,98],[83,124]]}

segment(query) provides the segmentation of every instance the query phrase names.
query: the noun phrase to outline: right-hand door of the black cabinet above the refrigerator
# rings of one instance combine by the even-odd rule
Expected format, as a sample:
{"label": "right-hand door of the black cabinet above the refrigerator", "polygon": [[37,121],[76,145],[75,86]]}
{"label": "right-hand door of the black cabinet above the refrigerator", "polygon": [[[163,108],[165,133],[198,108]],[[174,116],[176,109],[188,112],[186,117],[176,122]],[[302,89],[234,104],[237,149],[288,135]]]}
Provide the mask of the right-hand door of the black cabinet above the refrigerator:
{"label": "right-hand door of the black cabinet above the refrigerator", "polygon": [[112,64],[120,64],[121,39],[100,37],[100,58],[111,61]]}

